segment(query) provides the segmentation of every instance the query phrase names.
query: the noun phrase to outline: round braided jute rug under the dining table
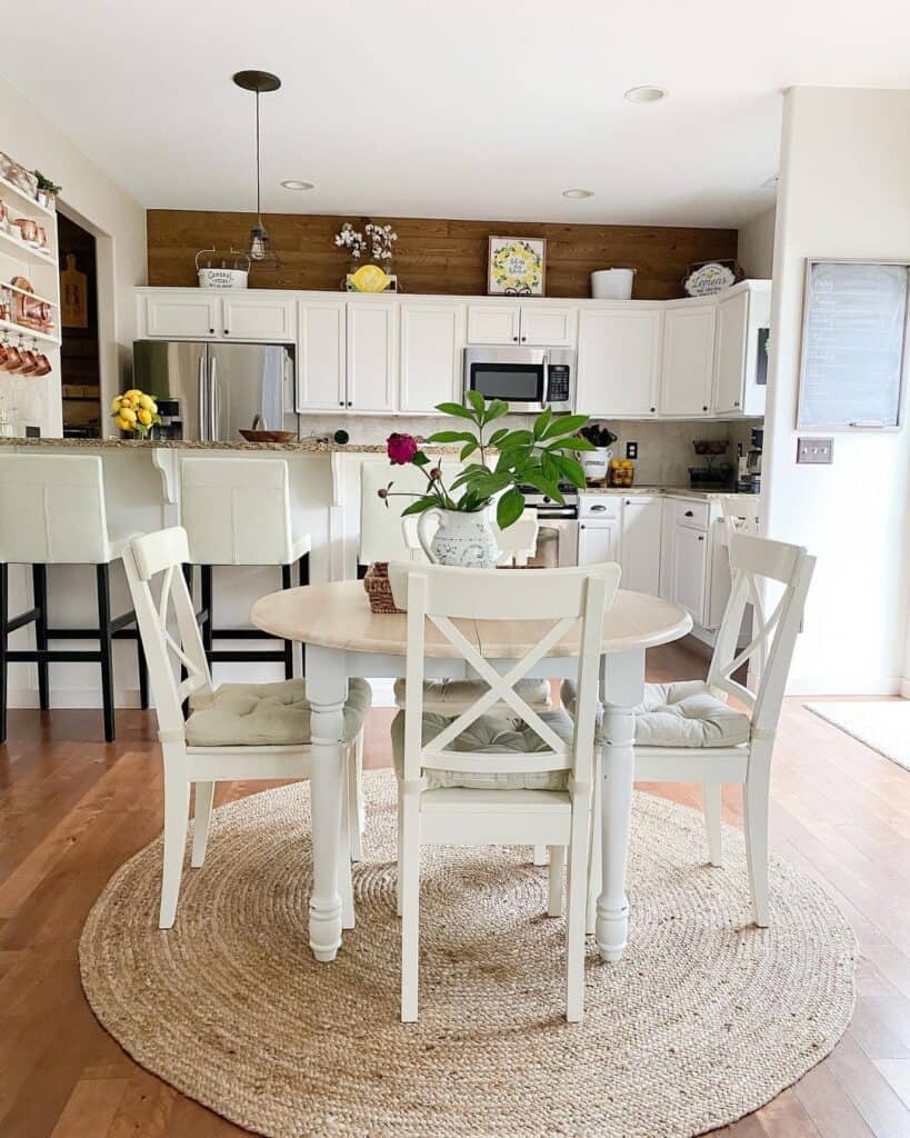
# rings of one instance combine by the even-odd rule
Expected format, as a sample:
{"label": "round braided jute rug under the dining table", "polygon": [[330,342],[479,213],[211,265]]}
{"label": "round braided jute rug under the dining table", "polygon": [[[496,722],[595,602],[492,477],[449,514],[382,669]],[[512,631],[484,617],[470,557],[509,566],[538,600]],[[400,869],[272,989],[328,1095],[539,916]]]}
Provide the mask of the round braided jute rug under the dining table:
{"label": "round braided jute rug under the dining table", "polygon": [[748,926],[743,843],[705,865],[702,819],[638,794],[632,927],[588,943],[585,1021],[563,1017],[562,920],[527,849],[425,852],[420,1023],[398,1021],[395,782],[367,775],[357,927],[307,947],[309,792],[216,811],[176,924],[156,927],[162,850],[111,879],[80,947],[107,1030],[142,1066],[276,1138],[689,1138],[755,1110],[830,1052],[855,942],[802,872],[771,867],[774,927]]}

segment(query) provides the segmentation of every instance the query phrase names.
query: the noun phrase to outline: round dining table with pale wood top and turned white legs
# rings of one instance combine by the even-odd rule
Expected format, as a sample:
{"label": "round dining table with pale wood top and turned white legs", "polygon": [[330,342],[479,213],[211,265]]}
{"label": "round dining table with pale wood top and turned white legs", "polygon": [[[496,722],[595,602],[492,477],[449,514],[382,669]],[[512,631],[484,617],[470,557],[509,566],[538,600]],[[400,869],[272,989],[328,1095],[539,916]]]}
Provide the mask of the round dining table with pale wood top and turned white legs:
{"label": "round dining table with pale wood top and turned white legs", "polygon": [[[317,960],[332,960],[341,946],[338,891],[342,794],[342,709],[351,676],[405,674],[407,618],[375,613],[362,582],[333,582],[282,589],[253,607],[253,624],[306,650],[306,694],[312,707],[313,887],[309,946]],[[497,670],[526,655],[549,621],[456,620],[456,627]],[[671,601],[620,589],[606,613],[601,645],[601,700],[604,706],[601,773],[603,817],[602,873],[594,933],[601,956],[617,960],[628,940],[626,898],[629,822],[635,767],[634,709],[642,702],[645,650],[685,636],[692,618]],[[528,676],[574,678],[578,636],[553,645]],[[428,676],[470,678],[457,650],[430,625],[425,638]]]}

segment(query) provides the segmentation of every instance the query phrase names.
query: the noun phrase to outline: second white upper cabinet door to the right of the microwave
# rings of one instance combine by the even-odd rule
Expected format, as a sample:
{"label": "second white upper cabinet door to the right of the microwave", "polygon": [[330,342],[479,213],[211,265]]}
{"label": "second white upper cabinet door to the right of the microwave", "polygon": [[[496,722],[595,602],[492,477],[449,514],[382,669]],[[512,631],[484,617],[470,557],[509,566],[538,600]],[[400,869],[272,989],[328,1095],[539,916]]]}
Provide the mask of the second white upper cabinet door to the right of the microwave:
{"label": "second white upper cabinet door to the right of the microwave", "polygon": [[663,314],[660,409],[665,415],[706,415],[714,374],[717,307],[690,304]]}

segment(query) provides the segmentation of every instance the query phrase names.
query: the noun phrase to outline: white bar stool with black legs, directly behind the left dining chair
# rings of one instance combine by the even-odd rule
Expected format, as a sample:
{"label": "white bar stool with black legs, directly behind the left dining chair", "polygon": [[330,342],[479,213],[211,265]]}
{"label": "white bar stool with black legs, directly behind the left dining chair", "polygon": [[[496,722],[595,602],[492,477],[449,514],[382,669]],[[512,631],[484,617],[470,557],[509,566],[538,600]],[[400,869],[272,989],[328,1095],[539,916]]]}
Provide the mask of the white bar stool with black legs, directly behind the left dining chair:
{"label": "white bar stool with black legs, directly behind the left dining chair", "polygon": [[[288,463],[284,459],[183,459],[180,463],[181,525],[190,543],[184,566],[192,593],[193,567],[201,577],[198,620],[209,667],[217,662],[280,661],[293,678],[293,641],[275,650],[216,649],[216,640],[272,640],[258,628],[218,628],[214,619],[213,566],[280,566],[281,587],[291,588],[291,567],[309,584],[309,534],[291,529]],[[304,671],[306,650],[304,649]]]}

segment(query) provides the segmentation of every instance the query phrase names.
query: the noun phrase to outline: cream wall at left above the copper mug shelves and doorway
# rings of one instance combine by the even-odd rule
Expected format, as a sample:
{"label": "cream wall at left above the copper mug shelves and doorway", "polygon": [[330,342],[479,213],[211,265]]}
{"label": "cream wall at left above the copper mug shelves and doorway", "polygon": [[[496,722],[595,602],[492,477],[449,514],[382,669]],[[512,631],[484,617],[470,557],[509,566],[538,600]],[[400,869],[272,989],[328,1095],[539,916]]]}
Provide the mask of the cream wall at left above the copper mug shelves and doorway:
{"label": "cream wall at left above the copper mug shelves and doorway", "polygon": [[[64,212],[98,238],[101,384],[107,402],[116,394],[132,357],[132,290],[146,283],[146,211],[2,77],[0,107],[0,149],[63,185]],[[53,393],[55,385],[48,385],[48,391]],[[58,391],[55,397],[59,397]]]}

